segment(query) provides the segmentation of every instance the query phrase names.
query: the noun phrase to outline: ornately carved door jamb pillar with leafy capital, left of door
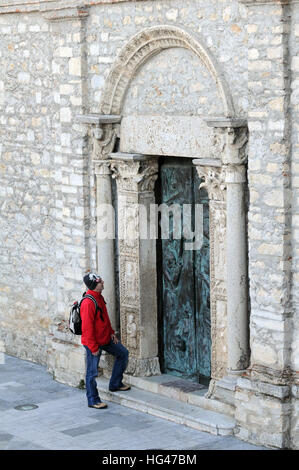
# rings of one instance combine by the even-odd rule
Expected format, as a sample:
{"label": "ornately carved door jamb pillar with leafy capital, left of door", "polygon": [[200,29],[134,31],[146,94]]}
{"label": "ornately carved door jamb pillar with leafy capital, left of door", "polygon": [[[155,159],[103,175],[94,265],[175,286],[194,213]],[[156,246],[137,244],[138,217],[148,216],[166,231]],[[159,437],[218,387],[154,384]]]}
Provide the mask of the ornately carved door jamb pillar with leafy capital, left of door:
{"label": "ornately carved door jamb pillar with leafy capital, left of door", "polygon": [[158,375],[156,240],[148,236],[158,163],[144,155],[111,158],[118,192],[121,340],[130,351],[126,372]]}

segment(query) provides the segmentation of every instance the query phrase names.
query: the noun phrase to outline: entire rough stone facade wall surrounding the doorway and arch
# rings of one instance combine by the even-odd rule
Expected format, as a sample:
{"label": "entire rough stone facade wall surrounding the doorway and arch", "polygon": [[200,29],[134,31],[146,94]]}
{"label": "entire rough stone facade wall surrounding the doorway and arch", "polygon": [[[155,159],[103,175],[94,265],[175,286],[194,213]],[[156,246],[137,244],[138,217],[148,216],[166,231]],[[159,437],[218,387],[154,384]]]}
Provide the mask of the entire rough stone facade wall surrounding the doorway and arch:
{"label": "entire rough stone facade wall surrounding the doorway and arch", "polygon": [[[76,116],[99,112],[125,44],[165,24],[200,38],[229,86],[236,115],[248,117],[251,364],[237,382],[238,435],[298,448],[295,0],[6,0],[0,6],[0,339],[8,354],[48,364],[60,380],[78,383],[82,355],[61,325],[83,291],[83,272],[97,266],[92,139]],[[141,65],[124,114],[221,114],[213,96],[198,58],[172,48]]]}

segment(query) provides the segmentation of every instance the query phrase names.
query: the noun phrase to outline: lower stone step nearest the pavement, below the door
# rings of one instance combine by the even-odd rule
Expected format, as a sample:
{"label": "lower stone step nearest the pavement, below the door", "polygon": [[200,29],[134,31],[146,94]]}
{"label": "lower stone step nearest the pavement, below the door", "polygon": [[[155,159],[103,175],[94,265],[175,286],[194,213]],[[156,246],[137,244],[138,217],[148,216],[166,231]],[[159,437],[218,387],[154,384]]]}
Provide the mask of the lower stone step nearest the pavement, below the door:
{"label": "lower stone step nearest the pavement, below the door", "polygon": [[141,390],[134,386],[127,392],[109,392],[108,385],[109,380],[106,377],[100,376],[97,378],[99,394],[103,401],[118,403],[143,413],[215,435],[226,436],[234,433],[235,420],[230,416],[162,396],[158,393]]}

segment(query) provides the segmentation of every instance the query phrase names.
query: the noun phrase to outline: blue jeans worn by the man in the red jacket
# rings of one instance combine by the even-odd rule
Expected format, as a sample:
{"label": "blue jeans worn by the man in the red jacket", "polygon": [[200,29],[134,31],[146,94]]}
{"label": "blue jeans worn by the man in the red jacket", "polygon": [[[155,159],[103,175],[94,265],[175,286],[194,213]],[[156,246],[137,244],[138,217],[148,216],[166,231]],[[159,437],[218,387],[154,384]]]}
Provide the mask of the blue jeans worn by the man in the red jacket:
{"label": "blue jeans worn by the man in the red jacket", "polygon": [[89,406],[101,403],[97,389],[96,377],[102,350],[115,356],[114,366],[109,382],[109,390],[117,390],[122,386],[123,373],[128,364],[129,351],[120,342],[114,344],[113,341],[106,346],[101,346],[99,354],[94,356],[87,346],[86,350],[86,396]]}

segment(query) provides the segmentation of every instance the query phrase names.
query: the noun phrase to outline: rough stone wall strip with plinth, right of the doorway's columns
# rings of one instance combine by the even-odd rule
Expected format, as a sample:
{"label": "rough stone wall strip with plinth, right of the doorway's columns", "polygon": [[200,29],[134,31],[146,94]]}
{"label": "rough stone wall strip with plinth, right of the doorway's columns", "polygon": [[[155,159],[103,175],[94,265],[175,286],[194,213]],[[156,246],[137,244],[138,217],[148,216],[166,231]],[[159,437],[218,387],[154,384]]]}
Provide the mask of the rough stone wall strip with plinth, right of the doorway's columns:
{"label": "rough stone wall strip with plinth, right of the doorway's columns", "polygon": [[251,366],[246,373],[250,382],[237,383],[236,418],[240,437],[279,447],[298,446],[296,414],[291,419],[296,391],[290,388],[298,369],[296,274],[292,272],[297,256],[292,236],[297,125],[291,95],[298,5],[246,3]]}

